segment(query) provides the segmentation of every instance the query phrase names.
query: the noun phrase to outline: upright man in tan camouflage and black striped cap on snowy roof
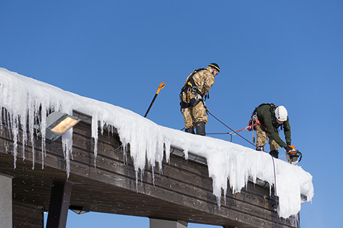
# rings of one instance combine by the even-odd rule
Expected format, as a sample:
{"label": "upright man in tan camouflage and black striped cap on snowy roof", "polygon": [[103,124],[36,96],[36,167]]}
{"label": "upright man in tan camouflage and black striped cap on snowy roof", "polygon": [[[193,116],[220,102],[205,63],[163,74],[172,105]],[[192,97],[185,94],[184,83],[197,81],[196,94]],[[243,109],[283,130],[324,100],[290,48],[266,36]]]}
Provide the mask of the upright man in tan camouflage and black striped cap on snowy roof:
{"label": "upright man in tan camouflage and black striped cap on snowy roof", "polygon": [[207,68],[193,71],[184,82],[180,93],[180,105],[184,115],[185,132],[194,134],[195,128],[197,135],[206,135],[207,115],[203,97],[206,98],[219,71],[218,64],[211,63]]}

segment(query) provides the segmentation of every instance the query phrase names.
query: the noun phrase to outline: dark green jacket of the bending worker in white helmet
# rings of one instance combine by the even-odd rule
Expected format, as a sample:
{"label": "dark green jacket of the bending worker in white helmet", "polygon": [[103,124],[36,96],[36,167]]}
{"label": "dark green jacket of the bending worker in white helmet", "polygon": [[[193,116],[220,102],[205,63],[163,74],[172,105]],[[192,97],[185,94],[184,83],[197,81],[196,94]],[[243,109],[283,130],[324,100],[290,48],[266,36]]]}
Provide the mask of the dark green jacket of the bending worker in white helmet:
{"label": "dark green jacket of the bending worker in white helmet", "polygon": [[[275,108],[277,108],[277,106],[271,107],[269,104],[259,106],[259,108],[257,108],[257,118],[259,118],[259,122],[264,126],[262,129],[267,132],[268,137],[275,140],[280,147],[284,147],[286,143],[280,138],[279,131],[277,130],[280,125],[277,123],[277,119],[275,118]],[[288,117],[282,125],[284,128],[284,138],[286,138],[286,142],[292,142],[291,126],[289,125]]]}

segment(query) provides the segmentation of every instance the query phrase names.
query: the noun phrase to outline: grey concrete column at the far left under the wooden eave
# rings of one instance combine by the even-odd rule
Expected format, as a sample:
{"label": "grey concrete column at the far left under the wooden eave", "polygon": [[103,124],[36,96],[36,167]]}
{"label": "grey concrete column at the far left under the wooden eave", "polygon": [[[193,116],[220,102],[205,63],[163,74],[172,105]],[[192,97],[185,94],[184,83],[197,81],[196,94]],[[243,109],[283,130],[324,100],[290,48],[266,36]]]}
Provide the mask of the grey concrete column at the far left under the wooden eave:
{"label": "grey concrete column at the far left under the wooden eave", "polygon": [[12,228],[12,178],[0,174],[0,227]]}

